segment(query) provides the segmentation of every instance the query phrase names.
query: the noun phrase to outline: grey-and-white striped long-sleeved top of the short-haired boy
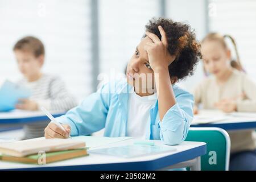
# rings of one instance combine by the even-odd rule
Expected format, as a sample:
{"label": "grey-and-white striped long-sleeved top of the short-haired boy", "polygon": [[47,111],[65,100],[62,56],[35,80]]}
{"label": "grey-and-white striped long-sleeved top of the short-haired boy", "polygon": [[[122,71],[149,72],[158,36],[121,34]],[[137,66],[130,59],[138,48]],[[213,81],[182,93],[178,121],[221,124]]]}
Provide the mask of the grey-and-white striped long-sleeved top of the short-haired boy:
{"label": "grey-and-white striped long-sleeved top of the short-haired boy", "polygon": [[[59,77],[43,74],[37,81],[28,82],[25,78],[19,85],[31,90],[30,100],[36,101],[38,108],[45,107],[51,111],[67,111],[77,106],[75,98],[68,93],[65,84]],[[48,121],[30,123],[23,127],[24,139],[43,137]]]}

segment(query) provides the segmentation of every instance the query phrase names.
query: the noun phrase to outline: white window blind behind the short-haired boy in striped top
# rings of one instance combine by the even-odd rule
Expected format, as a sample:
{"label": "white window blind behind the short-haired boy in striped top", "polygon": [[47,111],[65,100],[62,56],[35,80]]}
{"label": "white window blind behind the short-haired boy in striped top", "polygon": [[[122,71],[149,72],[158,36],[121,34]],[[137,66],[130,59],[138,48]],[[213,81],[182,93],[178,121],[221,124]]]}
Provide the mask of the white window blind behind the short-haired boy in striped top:
{"label": "white window blind behind the short-haired boy in striped top", "polygon": [[0,0],[0,81],[21,77],[14,44],[27,35],[44,43],[43,72],[60,76],[78,100],[92,92],[90,0]]}

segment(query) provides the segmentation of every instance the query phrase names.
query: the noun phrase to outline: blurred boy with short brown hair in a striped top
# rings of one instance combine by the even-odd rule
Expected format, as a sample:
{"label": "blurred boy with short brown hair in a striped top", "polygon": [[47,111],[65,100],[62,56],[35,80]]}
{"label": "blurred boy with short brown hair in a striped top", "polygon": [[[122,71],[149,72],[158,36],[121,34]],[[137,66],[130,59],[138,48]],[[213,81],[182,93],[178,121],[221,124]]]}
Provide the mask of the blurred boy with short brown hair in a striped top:
{"label": "blurred boy with short brown hair in a striped top", "polygon": [[[18,84],[31,90],[31,97],[20,99],[16,109],[67,111],[76,106],[76,101],[67,92],[60,78],[47,75],[41,71],[44,64],[43,43],[32,36],[20,39],[13,48],[19,71],[24,76]],[[31,123],[24,126],[24,139],[43,137],[48,122]]]}

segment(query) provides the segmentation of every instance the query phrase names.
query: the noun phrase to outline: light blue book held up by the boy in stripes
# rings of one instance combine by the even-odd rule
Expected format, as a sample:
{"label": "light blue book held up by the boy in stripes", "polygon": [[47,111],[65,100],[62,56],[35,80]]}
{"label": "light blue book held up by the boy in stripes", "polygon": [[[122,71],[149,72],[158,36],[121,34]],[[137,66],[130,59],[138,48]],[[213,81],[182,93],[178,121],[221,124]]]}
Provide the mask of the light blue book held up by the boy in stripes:
{"label": "light blue book held up by the boy in stripes", "polygon": [[0,111],[15,109],[19,98],[28,98],[30,95],[29,89],[6,80],[0,88]]}

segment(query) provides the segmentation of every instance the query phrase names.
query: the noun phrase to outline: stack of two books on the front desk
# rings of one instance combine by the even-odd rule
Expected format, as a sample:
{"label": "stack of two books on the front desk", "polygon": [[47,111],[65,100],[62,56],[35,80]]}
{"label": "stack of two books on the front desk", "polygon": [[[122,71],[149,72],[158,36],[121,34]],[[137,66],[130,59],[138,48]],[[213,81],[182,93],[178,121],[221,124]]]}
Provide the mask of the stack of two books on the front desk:
{"label": "stack of two books on the front desk", "polygon": [[47,164],[88,155],[85,142],[72,139],[29,139],[0,142],[0,160]]}

